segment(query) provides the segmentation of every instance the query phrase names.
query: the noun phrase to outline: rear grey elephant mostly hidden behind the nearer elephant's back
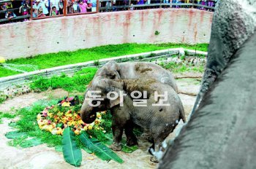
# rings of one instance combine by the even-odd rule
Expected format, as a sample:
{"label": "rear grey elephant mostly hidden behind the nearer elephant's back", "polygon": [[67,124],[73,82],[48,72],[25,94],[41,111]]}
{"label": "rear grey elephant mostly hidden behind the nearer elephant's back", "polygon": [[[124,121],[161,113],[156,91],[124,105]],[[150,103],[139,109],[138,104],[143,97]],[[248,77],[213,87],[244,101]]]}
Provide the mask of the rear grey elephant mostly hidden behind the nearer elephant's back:
{"label": "rear grey elephant mostly hidden behind the nearer elephant's back", "polygon": [[140,79],[153,78],[157,81],[169,84],[178,93],[173,74],[165,70],[161,66],[148,62],[127,62],[116,63],[116,61],[109,61],[102,68],[99,68],[96,76],[104,76],[108,79]]}

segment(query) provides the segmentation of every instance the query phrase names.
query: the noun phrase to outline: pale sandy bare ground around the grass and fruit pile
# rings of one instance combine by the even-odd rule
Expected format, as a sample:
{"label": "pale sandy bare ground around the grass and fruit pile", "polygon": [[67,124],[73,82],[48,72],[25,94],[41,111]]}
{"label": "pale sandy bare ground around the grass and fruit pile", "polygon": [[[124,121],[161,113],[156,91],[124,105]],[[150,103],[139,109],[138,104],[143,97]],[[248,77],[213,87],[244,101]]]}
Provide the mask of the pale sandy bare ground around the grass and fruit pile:
{"label": "pale sandy bare ground around the grass and fruit pile", "polygon": [[[189,95],[179,94],[186,117],[188,117],[192,106],[195,102],[195,95],[200,87],[197,79],[178,79],[178,90],[181,93],[189,93]],[[13,111],[25,106],[29,106],[35,101],[48,98],[63,98],[67,95],[64,90],[53,90],[45,93],[29,93],[12,98],[0,104],[0,111]],[[0,168],[74,168],[64,161],[61,152],[56,152],[54,148],[50,148],[45,144],[27,149],[18,149],[7,146],[7,139],[4,134],[13,130],[8,126],[11,119],[3,119],[4,123],[0,124]],[[175,133],[170,134],[173,138]],[[99,160],[92,154],[83,152],[83,160],[80,168],[156,168],[157,163],[151,162],[151,155],[148,154],[149,143],[141,141],[139,138],[139,149],[132,153],[116,152],[123,160],[123,164],[118,164],[111,160],[105,162]],[[93,158],[91,158],[93,157]],[[91,160],[92,159],[92,160]]]}

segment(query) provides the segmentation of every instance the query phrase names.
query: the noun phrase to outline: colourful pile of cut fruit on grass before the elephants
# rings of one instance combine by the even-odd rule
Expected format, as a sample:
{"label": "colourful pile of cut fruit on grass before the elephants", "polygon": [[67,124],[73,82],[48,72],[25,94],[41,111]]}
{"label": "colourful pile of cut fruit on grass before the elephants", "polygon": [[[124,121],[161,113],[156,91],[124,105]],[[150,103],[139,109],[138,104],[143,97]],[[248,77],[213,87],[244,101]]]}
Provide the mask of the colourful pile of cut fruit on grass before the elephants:
{"label": "colourful pile of cut fruit on grass before the elephants", "polygon": [[75,103],[75,98],[65,98],[57,105],[48,106],[37,114],[37,124],[41,130],[46,130],[53,135],[62,135],[66,127],[71,127],[76,135],[83,130],[103,130],[105,133],[105,130],[100,127],[102,114],[105,112],[98,112],[97,119],[91,124],[86,124],[80,117],[80,104]]}

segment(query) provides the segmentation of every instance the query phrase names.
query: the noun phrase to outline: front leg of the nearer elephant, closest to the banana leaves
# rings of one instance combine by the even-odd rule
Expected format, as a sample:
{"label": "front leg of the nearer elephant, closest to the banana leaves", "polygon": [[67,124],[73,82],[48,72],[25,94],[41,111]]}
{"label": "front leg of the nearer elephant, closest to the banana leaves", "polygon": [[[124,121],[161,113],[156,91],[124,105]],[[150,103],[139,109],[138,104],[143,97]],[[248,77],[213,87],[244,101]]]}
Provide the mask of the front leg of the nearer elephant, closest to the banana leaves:
{"label": "front leg of the nearer elephant, closest to the banana leaves", "polygon": [[117,125],[112,125],[112,132],[113,144],[110,145],[110,149],[121,151],[121,138],[124,132],[124,128]]}

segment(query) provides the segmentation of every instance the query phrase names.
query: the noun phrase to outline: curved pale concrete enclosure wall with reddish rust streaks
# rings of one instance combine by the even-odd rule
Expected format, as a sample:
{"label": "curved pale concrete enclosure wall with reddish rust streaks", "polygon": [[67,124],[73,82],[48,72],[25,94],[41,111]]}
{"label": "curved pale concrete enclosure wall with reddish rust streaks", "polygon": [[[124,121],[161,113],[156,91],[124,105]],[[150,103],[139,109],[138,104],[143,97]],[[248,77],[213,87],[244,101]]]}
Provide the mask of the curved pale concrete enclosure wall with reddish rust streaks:
{"label": "curved pale concrete enclosure wall with reddish rust streaks", "polygon": [[197,9],[148,9],[10,23],[0,25],[0,56],[21,58],[132,42],[208,43],[212,17],[212,12]]}

